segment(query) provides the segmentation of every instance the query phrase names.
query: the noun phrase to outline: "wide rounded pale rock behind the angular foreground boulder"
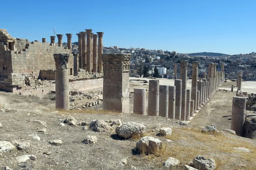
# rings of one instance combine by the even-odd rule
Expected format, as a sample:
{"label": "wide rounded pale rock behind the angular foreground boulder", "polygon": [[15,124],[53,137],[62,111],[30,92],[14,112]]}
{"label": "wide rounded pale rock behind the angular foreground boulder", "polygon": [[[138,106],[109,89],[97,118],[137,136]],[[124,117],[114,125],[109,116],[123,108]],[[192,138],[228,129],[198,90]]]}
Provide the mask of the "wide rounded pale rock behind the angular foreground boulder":
{"label": "wide rounded pale rock behind the angular foreground boulder", "polygon": [[116,133],[122,138],[131,138],[136,135],[142,135],[145,132],[145,125],[135,122],[125,122],[116,127]]}

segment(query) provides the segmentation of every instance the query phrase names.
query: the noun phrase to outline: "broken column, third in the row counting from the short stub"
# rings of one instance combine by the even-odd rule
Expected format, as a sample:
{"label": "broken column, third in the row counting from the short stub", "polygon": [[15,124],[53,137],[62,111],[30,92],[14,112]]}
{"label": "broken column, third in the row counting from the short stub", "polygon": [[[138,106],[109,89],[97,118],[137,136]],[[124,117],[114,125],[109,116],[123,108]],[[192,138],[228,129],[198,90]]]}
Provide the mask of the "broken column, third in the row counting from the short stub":
{"label": "broken column, third in the row counting from the short stub", "polygon": [[159,116],[168,118],[168,85],[159,86]]}

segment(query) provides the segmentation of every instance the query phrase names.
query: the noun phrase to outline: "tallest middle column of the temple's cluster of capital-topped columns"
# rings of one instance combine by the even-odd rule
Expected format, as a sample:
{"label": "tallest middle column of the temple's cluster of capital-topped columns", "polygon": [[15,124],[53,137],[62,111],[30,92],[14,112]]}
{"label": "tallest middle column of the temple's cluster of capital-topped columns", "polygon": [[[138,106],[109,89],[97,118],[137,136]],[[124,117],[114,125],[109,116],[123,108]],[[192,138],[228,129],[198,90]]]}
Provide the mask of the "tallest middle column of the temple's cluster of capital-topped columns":
{"label": "tallest middle column of the temple's cluster of capital-topped columns", "polygon": [[86,50],[86,71],[89,73],[92,72],[92,64],[91,64],[91,58],[92,58],[92,29],[86,29],[86,35],[87,35],[87,50]]}

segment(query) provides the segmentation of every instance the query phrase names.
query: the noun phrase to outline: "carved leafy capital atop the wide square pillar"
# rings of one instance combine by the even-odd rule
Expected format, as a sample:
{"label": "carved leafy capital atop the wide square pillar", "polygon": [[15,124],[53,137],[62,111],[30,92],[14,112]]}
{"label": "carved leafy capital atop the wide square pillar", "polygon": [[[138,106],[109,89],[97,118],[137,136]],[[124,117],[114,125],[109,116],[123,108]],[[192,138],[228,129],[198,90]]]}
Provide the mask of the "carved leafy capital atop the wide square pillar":
{"label": "carved leafy capital atop the wide square pillar", "polygon": [[103,71],[129,71],[131,54],[102,54]]}

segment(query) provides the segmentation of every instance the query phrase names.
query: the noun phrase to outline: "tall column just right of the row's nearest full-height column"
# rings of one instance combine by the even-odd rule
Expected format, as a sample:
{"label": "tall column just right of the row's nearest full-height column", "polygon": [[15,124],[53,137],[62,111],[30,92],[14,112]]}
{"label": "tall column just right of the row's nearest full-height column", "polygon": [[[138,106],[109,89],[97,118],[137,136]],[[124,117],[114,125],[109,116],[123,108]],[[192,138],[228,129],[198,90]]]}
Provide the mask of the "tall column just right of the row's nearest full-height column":
{"label": "tall column just right of the row's nearest full-height column", "polygon": [[193,62],[192,68],[192,85],[191,85],[191,100],[194,100],[194,112],[196,111],[196,101],[197,101],[197,81],[198,81],[198,62]]}

